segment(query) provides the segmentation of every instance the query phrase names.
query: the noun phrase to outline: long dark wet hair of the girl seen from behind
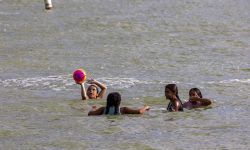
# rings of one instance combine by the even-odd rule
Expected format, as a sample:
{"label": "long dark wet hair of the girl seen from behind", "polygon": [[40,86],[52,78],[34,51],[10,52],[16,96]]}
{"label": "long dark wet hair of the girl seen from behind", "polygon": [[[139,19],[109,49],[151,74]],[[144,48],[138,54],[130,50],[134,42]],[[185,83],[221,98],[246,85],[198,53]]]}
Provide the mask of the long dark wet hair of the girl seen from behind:
{"label": "long dark wet hair of the girl seen from behind", "polygon": [[118,92],[109,93],[109,95],[107,97],[107,104],[106,104],[105,114],[109,113],[109,109],[112,106],[115,107],[114,115],[119,114],[120,103],[121,103],[121,95],[120,95],[120,93],[118,93]]}

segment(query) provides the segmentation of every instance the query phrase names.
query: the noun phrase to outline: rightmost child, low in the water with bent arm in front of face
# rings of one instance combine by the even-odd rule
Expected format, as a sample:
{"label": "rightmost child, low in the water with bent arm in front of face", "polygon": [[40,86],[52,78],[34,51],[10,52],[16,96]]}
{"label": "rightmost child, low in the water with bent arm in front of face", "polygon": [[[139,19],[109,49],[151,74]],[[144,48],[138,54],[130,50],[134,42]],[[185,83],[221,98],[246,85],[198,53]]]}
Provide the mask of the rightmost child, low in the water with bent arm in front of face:
{"label": "rightmost child, low in the water with bent arm in front of face", "polygon": [[212,104],[210,99],[202,98],[201,91],[198,88],[189,90],[189,100],[183,104],[186,109],[206,107]]}

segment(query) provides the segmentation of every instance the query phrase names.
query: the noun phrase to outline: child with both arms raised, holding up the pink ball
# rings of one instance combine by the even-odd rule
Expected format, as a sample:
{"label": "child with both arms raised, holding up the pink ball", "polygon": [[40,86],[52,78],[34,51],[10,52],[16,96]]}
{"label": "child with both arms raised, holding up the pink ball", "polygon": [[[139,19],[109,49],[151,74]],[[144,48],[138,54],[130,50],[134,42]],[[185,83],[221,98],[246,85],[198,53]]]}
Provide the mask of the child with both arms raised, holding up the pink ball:
{"label": "child with both arms raised, holding up the pink ball", "polygon": [[[99,98],[103,98],[103,96],[106,94],[107,87],[105,84],[102,84],[94,79],[88,80],[87,83],[91,84],[88,87],[87,92],[85,90],[84,83],[77,83],[77,84],[80,84],[81,86],[82,100],[99,99]],[[101,89],[100,92],[98,88]]]}

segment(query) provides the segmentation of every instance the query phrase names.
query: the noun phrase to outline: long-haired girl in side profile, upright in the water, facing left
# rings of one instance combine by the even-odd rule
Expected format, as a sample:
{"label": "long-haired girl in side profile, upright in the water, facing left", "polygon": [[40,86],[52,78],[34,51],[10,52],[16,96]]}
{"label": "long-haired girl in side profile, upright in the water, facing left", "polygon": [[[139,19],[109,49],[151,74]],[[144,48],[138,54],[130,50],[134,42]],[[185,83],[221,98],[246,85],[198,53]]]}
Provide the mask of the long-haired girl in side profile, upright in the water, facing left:
{"label": "long-haired girl in side profile, upright in the water, facing left", "polygon": [[168,84],[165,86],[165,96],[169,99],[167,110],[172,111],[183,111],[182,102],[178,95],[178,88],[176,84]]}

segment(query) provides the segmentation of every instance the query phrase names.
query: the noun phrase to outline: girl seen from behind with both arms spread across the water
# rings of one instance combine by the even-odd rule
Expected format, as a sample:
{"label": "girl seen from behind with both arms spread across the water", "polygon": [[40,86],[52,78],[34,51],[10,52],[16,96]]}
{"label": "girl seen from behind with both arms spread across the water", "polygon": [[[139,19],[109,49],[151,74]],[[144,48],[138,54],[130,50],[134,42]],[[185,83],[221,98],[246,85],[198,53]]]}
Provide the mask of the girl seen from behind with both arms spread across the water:
{"label": "girl seen from behind with both arms spread across the water", "polygon": [[140,109],[131,109],[128,107],[120,107],[121,95],[118,92],[110,93],[107,97],[106,107],[92,107],[88,115],[119,115],[119,114],[143,114],[149,110],[149,106],[144,106]]}

